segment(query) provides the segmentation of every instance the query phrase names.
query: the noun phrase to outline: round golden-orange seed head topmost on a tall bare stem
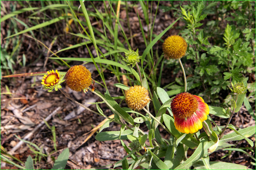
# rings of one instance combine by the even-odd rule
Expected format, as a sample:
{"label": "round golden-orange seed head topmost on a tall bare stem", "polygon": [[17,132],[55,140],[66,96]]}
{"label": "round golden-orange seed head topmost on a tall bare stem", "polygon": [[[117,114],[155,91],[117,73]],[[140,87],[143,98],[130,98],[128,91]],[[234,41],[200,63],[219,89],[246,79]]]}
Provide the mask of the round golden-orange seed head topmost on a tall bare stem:
{"label": "round golden-orange seed head topmost on a tall bare stem", "polygon": [[164,56],[167,59],[180,59],[186,54],[188,44],[179,35],[171,35],[162,44]]}

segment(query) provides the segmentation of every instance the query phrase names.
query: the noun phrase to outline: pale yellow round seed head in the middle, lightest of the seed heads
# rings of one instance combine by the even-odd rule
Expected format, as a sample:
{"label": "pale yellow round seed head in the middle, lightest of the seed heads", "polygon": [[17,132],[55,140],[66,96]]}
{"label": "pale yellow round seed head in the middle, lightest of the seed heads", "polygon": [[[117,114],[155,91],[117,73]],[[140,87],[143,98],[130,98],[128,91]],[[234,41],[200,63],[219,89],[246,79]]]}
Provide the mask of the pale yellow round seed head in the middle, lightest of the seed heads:
{"label": "pale yellow round seed head in the middle, lightest of the seed heads", "polygon": [[149,91],[140,85],[132,86],[125,91],[125,101],[129,108],[141,110],[150,102]]}

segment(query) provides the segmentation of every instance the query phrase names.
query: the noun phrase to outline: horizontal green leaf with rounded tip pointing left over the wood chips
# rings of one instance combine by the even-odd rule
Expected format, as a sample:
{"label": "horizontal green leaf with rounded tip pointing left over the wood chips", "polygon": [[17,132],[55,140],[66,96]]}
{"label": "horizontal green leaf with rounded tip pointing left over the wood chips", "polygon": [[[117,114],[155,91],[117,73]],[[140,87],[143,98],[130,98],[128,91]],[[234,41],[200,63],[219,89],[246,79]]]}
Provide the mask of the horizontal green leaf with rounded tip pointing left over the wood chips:
{"label": "horizontal green leaf with rounded tip pointing left over the wood chips", "polygon": [[120,131],[107,131],[107,132],[100,132],[95,136],[95,139],[98,141],[108,141],[108,140],[127,140],[127,135],[132,135],[133,131],[132,130],[124,130],[123,133],[121,134],[121,138],[119,138]]}

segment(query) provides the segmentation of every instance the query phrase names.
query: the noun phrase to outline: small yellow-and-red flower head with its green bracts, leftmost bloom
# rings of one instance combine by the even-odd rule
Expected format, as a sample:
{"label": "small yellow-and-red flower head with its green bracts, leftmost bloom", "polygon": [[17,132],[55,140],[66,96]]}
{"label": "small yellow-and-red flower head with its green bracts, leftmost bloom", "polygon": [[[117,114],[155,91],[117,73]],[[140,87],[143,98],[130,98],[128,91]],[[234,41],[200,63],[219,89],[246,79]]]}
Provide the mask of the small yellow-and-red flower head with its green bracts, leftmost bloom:
{"label": "small yellow-and-red flower head with its green bracts, leftmost bloom", "polygon": [[53,89],[57,91],[58,88],[61,88],[60,84],[65,81],[63,80],[63,78],[63,76],[59,76],[58,70],[56,70],[56,72],[54,72],[54,70],[47,71],[47,75],[43,76],[41,82],[41,84],[43,85],[43,89],[49,89],[48,92],[52,92]]}

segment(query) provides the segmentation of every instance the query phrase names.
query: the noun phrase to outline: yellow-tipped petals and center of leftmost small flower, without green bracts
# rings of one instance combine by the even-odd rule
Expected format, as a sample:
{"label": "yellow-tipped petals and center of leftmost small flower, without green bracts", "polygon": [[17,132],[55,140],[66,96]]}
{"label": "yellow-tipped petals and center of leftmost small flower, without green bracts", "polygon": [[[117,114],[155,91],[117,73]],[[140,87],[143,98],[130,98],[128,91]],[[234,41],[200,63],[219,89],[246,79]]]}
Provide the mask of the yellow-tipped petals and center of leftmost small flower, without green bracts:
{"label": "yellow-tipped petals and center of leftmost small flower, without green bracts", "polygon": [[58,70],[56,70],[56,73],[54,70],[47,71],[47,75],[43,76],[41,84],[44,86],[53,86],[56,85],[59,82],[59,73]]}

